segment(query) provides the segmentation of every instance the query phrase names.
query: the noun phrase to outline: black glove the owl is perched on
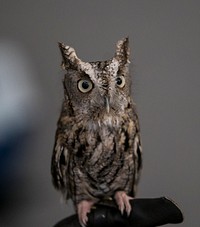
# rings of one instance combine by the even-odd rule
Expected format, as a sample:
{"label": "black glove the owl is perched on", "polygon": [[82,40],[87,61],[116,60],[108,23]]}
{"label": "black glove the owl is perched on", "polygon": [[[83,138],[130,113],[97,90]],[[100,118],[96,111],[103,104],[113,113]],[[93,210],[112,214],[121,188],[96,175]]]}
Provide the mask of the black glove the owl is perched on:
{"label": "black glove the owl is perched on", "polygon": [[[130,200],[132,211],[129,217],[121,215],[115,206],[97,204],[88,214],[87,227],[155,227],[183,222],[180,209],[165,197]],[[81,227],[77,215],[58,222],[54,227]]]}

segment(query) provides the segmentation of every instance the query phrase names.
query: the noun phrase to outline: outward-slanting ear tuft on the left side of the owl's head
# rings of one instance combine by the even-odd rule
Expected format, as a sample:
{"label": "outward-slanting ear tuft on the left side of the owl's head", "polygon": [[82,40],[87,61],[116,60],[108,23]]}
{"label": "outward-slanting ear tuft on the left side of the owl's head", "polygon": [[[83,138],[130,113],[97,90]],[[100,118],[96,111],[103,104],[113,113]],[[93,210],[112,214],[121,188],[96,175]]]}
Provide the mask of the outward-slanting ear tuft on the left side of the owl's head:
{"label": "outward-slanting ear tuft on the left side of the owl's head", "polygon": [[77,57],[74,48],[65,46],[63,43],[58,43],[62,55],[61,67],[63,69],[77,69],[81,60]]}

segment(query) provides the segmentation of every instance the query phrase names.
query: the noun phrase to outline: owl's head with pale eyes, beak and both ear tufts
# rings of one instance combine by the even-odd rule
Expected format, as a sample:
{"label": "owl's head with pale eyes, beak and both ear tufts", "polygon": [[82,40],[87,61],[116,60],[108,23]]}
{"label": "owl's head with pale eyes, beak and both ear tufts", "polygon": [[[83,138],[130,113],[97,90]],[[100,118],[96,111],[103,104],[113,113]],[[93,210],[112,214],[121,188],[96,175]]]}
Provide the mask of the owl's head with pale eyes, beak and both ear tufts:
{"label": "owl's head with pale eyes, beak and both ear tufts", "polygon": [[112,59],[84,62],[72,47],[59,43],[65,98],[76,114],[88,117],[122,114],[130,105],[129,41],[120,40]]}

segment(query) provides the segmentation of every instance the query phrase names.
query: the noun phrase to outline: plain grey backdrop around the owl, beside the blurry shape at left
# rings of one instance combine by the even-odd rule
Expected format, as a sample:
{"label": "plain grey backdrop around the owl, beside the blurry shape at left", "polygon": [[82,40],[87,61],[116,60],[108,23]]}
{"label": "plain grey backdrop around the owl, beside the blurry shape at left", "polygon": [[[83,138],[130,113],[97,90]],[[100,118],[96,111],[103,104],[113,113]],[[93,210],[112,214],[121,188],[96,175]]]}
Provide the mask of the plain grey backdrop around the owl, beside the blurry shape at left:
{"label": "plain grey backdrop around the owl, beside the blurry shape at left", "polygon": [[144,152],[138,196],[168,196],[184,212],[180,226],[199,226],[199,23],[200,2],[194,0],[0,1],[0,43],[25,53],[36,93],[34,121],[29,119],[34,129],[17,155],[17,180],[0,226],[52,226],[73,212],[70,203],[60,203],[50,176],[63,98],[57,42],[94,61],[112,57],[125,36]]}

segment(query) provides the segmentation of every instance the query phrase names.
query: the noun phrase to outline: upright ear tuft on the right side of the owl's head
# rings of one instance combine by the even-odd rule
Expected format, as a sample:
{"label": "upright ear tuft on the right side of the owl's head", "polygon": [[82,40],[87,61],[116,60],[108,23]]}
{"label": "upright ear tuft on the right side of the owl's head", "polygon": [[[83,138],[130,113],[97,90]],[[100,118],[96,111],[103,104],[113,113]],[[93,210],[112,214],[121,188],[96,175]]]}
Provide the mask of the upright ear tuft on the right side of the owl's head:
{"label": "upright ear tuft on the right side of the owl's head", "polygon": [[119,64],[123,66],[130,63],[129,55],[130,55],[129,38],[126,37],[117,42],[115,58],[119,61]]}

